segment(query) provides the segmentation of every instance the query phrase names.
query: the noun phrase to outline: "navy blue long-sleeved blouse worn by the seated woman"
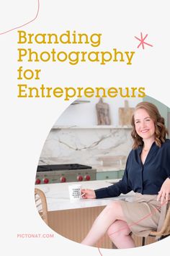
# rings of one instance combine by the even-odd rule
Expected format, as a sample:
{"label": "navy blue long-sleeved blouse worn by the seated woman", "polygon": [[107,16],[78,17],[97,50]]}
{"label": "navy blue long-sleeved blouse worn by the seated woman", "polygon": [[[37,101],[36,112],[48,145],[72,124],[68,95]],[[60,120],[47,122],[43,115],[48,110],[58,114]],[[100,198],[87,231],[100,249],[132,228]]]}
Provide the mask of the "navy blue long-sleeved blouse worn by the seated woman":
{"label": "navy blue long-sleeved blouse worn by the seated woman", "polygon": [[122,180],[94,190],[97,198],[117,197],[131,190],[143,195],[158,194],[167,177],[170,179],[170,140],[167,139],[161,148],[153,142],[144,164],[140,159],[141,151],[142,147],[130,151]]}

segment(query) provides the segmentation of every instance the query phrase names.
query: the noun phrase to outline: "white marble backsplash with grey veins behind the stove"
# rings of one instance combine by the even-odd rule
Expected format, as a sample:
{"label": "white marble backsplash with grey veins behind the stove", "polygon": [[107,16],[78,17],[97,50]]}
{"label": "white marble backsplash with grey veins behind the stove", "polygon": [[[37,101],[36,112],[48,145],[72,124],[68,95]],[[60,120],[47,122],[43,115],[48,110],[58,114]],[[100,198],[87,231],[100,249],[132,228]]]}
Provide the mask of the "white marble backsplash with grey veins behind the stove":
{"label": "white marble backsplash with grey veins behind the stove", "polygon": [[120,170],[132,147],[130,127],[55,127],[39,164],[81,163],[97,170]]}

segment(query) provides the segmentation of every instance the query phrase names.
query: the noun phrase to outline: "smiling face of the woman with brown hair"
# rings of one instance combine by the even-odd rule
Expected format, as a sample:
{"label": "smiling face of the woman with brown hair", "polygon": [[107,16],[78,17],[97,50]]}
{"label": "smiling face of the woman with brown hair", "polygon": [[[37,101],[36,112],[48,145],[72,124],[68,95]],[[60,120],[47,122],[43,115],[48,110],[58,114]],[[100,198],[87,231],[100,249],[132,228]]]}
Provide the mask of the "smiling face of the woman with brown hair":
{"label": "smiling face of the woman with brown hair", "polygon": [[134,121],[135,130],[143,140],[155,140],[155,124],[145,109],[135,111]]}

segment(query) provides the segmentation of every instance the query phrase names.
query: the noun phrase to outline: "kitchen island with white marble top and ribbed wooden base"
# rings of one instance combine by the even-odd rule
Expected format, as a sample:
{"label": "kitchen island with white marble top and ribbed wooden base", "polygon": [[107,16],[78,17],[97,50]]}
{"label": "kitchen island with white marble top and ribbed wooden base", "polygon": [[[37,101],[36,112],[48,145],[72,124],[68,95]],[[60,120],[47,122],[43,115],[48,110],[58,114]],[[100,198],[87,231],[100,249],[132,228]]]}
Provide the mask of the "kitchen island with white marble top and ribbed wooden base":
{"label": "kitchen island with white marble top and ribbed wooden base", "polygon": [[[118,179],[107,181],[81,182],[82,189],[99,189],[109,187],[112,183],[118,182]],[[41,189],[46,196],[48,203],[48,226],[61,236],[71,239],[75,242],[81,242],[92,223],[103,208],[112,202],[112,200],[133,200],[133,192],[119,197],[109,197],[102,199],[81,199],[71,201],[68,194],[68,185],[78,182],[63,184],[41,184],[35,187]],[[136,240],[140,245],[140,240]],[[112,248],[107,234],[100,239],[97,247]]]}

